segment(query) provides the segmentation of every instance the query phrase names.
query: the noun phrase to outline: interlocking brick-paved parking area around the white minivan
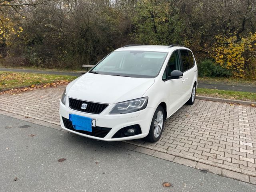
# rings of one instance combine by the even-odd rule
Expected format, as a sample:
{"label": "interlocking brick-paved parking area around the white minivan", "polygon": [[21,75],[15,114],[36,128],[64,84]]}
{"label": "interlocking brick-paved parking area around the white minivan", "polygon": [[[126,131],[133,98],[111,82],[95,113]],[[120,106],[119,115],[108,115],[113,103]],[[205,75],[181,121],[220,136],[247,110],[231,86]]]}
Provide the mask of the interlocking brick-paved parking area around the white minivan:
{"label": "interlocking brick-paved parking area around the white minivan", "polygon": [[[49,122],[59,124],[58,106],[64,88],[0,95],[0,110],[11,113],[0,112],[61,129]],[[133,140],[118,145],[256,184],[255,107],[196,100],[166,121],[158,142]]]}

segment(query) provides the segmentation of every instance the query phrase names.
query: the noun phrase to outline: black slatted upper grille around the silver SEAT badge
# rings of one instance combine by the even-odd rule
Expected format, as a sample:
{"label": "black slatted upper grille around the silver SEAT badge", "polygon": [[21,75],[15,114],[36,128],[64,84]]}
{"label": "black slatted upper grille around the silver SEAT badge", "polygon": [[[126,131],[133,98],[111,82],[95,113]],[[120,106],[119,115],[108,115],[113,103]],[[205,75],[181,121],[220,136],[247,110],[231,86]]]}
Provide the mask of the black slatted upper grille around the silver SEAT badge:
{"label": "black slatted upper grille around the silver SEAT badge", "polygon": [[[93,113],[93,114],[100,114],[108,106],[108,104],[93,103],[88,101],[72,99],[72,98],[68,98],[68,103],[71,109],[86,112],[86,113]],[[81,109],[82,104],[84,103],[87,104],[87,107],[86,109]]]}

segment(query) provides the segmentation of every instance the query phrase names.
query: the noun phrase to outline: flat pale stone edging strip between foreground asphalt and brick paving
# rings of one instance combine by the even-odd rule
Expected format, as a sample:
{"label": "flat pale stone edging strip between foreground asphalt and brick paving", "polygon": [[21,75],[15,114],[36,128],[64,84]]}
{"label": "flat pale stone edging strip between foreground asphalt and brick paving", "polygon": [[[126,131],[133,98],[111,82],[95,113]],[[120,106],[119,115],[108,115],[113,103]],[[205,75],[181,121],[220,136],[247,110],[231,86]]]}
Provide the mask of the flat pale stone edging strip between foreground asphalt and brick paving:
{"label": "flat pale stone edging strip between foreground asphalt and brick paving", "polygon": [[[60,123],[58,122],[50,122],[46,120],[42,120],[40,118],[35,118],[33,116],[29,115],[24,115],[24,114],[19,114],[19,113],[13,113],[5,110],[0,109],[0,114],[6,115],[6,116],[14,116],[17,119],[24,120],[24,117],[29,117],[28,122],[35,123],[35,124],[40,124],[42,126],[48,126],[49,128],[54,128],[56,130],[64,131],[67,133],[70,133],[60,127]],[[13,115],[12,115],[13,114]],[[15,115],[17,114],[17,115]],[[31,120],[32,118],[32,120]],[[45,122],[47,122],[45,124]],[[73,133],[70,133],[73,134]],[[152,147],[147,147],[143,146],[143,144],[139,144],[134,141],[124,141],[124,142],[109,142],[110,145],[117,146],[120,148],[125,148],[128,150],[132,150],[135,152],[140,152],[142,154],[147,154],[150,156],[154,156],[160,159],[164,159],[170,162],[182,164],[185,166],[190,166],[192,168],[196,168],[198,170],[204,171],[204,172],[210,172],[213,174],[218,174],[221,176],[225,176],[228,178],[233,178],[236,180],[240,180],[243,182],[247,182],[250,184],[255,184],[256,185],[256,177],[251,176],[250,174],[242,174],[242,170],[240,168],[234,168],[232,166],[227,166],[224,164],[218,164],[214,162],[208,162],[208,160],[204,159],[199,159],[195,157],[190,157],[187,156],[186,154],[181,155],[177,154],[176,152],[171,152],[171,153],[166,153],[165,150],[158,150],[158,148],[152,146]],[[160,149],[160,148],[159,148]]]}

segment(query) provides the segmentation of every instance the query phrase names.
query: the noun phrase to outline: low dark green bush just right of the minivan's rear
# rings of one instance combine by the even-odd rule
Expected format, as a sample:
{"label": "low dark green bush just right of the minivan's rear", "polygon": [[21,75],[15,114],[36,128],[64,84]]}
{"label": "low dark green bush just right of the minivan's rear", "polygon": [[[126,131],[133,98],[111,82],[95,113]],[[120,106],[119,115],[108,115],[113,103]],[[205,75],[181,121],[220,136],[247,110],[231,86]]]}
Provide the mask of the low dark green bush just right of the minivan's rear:
{"label": "low dark green bush just right of the minivan's rear", "polygon": [[200,77],[230,77],[230,70],[222,68],[220,65],[214,64],[210,59],[205,59],[198,63],[198,76]]}

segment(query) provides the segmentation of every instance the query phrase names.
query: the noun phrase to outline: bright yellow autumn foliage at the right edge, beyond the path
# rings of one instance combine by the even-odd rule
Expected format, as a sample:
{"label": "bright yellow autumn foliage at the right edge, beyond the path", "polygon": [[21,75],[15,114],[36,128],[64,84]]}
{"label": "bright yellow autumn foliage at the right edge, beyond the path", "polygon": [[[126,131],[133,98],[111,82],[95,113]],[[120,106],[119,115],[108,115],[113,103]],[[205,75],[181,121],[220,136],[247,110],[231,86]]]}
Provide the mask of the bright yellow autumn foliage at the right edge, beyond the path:
{"label": "bright yellow autumn foliage at the right edge, beyond the path", "polygon": [[246,66],[256,58],[256,33],[238,40],[236,36],[216,36],[211,57],[216,64],[232,71],[235,77],[244,77]]}

